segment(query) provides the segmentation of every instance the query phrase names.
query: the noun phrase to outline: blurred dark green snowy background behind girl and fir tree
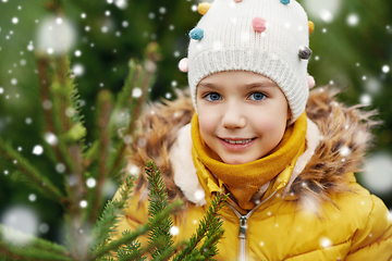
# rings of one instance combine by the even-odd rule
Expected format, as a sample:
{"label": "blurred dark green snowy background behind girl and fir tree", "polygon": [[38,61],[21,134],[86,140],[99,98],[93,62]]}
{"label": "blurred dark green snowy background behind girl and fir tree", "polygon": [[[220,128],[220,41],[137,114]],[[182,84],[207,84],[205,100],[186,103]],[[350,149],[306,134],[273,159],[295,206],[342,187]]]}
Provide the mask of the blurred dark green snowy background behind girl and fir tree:
{"label": "blurred dark green snowy background behind girl and fir tree", "polygon": [[[70,24],[74,40],[68,53],[86,126],[91,129],[98,90],[119,91],[128,59],[142,60],[151,41],[159,44],[162,53],[151,99],[174,99],[175,88],[186,88],[186,75],[177,70],[177,63],[186,57],[187,33],[200,15],[197,0],[63,0],[63,11],[54,16],[45,8],[50,2],[0,0],[0,135],[52,181],[60,181],[61,173],[47,164],[45,153],[32,153],[42,142],[45,104],[39,97],[35,53],[48,49],[40,40],[40,28],[60,16],[59,24]],[[383,125],[373,132],[377,140],[365,166],[369,171],[357,178],[392,209],[392,1],[299,2],[316,24],[309,73],[317,86],[333,84],[342,89],[341,101],[379,111]],[[11,169],[0,165],[0,221],[14,207],[28,209],[37,216],[37,234],[61,241],[60,207],[12,181]]]}

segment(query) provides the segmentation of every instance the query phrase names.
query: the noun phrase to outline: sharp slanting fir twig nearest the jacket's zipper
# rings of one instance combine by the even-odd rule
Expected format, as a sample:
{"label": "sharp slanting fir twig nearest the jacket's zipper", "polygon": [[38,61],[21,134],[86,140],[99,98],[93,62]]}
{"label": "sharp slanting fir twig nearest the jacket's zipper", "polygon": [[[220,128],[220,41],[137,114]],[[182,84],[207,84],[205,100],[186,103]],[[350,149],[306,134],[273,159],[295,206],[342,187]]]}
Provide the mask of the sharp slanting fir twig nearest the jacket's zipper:
{"label": "sharp slanting fir twig nearest the jacket's zipper", "polygon": [[[223,208],[225,204],[225,200],[228,199],[228,195],[218,194],[213,200],[211,201],[211,206],[209,207],[207,214],[205,215],[204,220],[199,223],[199,226],[197,227],[196,235],[193,235],[189,239],[189,243],[187,244],[186,248],[183,249],[179,254],[175,256],[173,261],[180,261],[180,260],[188,260],[186,257],[189,257],[189,254],[196,256],[201,254],[200,251],[204,251],[205,249],[215,248],[216,244],[218,243],[218,239],[223,235],[223,232],[221,231],[222,221],[218,221],[218,212],[220,209]],[[196,250],[197,245],[204,239],[207,238],[206,235],[215,235],[217,234],[218,237],[215,238],[215,240],[210,240],[209,244],[203,245],[203,248]]]}

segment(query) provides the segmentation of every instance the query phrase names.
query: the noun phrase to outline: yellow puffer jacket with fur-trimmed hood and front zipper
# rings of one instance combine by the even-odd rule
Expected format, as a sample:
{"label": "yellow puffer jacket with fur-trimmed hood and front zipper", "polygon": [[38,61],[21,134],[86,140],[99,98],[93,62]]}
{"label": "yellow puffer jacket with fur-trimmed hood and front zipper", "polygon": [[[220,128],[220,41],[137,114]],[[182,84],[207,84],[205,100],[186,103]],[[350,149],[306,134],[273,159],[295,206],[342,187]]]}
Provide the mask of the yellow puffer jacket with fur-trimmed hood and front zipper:
{"label": "yellow puffer jacket with fur-trimmed hood and front zipper", "polygon": [[[130,165],[155,160],[169,196],[186,200],[185,212],[174,216],[179,227],[174,238],[189,238],[220,190],[219,183],[198,160],[192,160],[186,126],[192,101],[180,95],[168,105],[149,109],[155,113],[146,113],[142,121],[144,130]],[[327,89],[310,92],[307,115],[311,120],[307,149],[296,164],[255,195],[259,203],[250,212],[242,213],[234,202],[221,210],[224,235],[217,260],[392,260],[392,214],[353,174],[363,163],[375,122],[335,102]],[[146,183],[140,175],[114,238],[147,222]]]}

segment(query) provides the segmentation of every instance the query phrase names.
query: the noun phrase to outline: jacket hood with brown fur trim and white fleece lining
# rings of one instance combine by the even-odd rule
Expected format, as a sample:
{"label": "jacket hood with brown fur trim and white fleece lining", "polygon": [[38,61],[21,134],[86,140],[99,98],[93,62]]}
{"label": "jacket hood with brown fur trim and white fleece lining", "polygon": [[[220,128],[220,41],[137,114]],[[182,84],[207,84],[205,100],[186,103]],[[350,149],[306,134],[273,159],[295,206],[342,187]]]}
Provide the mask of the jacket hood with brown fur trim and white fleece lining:
{"label": "jacket hood with brown fur trim and white fleece lining", "polygon": [[[350,190],[346,173],[360,171],[364,154],[372,139],[370,130],[377,125],[371,120],[375,113],[359,110],[358,105],[346,108],[336,101],[335,95],[336,91],[329,87],[310,91],[306,107],[309,119],[307,149],[298,159],[283,194],[295,194],[299,199],[329,201],[332,195]],[[139,120],[139,133],[132,144],[126,170],[134,165],[144,166],[152,159],[161,170],[170,198],[204,204],[204,199],[193,198],[195,194],[189,190],[197,190],[200,186],[191,150],[184,153],[184,149],[177,148],[192,148],[192,140],[186,135],[189,129],[185,125],[191,122],[194,108],[187,94],[179,91],[177,96],[174,101],[157,102],[147,108]],[[184,171],[187,172],[185,177],[179,178]],[[136,190],[144,190],[146,185],[145,174],[140,172]]]}

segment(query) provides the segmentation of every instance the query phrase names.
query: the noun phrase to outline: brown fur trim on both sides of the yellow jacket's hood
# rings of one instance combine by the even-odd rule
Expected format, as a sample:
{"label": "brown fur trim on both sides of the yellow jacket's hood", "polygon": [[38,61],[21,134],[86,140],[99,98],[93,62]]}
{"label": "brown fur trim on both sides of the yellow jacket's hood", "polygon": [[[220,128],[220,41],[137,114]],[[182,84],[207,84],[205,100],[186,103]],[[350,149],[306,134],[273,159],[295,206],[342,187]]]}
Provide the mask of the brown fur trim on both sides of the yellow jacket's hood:
{"label": "brown fur trim on both sides of the yellow jacket's hood", "polygon": [[[304,202],[330,201],[332,195],[350,191],[345,174],[360,171],[372,140],[371,128],[379,124],[371,120],[375,111],[366,112],[359,110],[358,105],[346,108],[335,100],[336,94],[324,87],[314,89],[309,95],[306,112],[317,124],[322,140],[291,187],[291,192]],[[161,170],[169,197],[185,199],[173,182],[169,151],[177,130],[191,122],[194,108],[187,91],[179,91],[177,97],[174,101],[148,105],[139,120],[139,133],[132,145],[128,163],[144,166],[152,159]],[[143,173],[136,190],[146,186],[147,179]]]}

